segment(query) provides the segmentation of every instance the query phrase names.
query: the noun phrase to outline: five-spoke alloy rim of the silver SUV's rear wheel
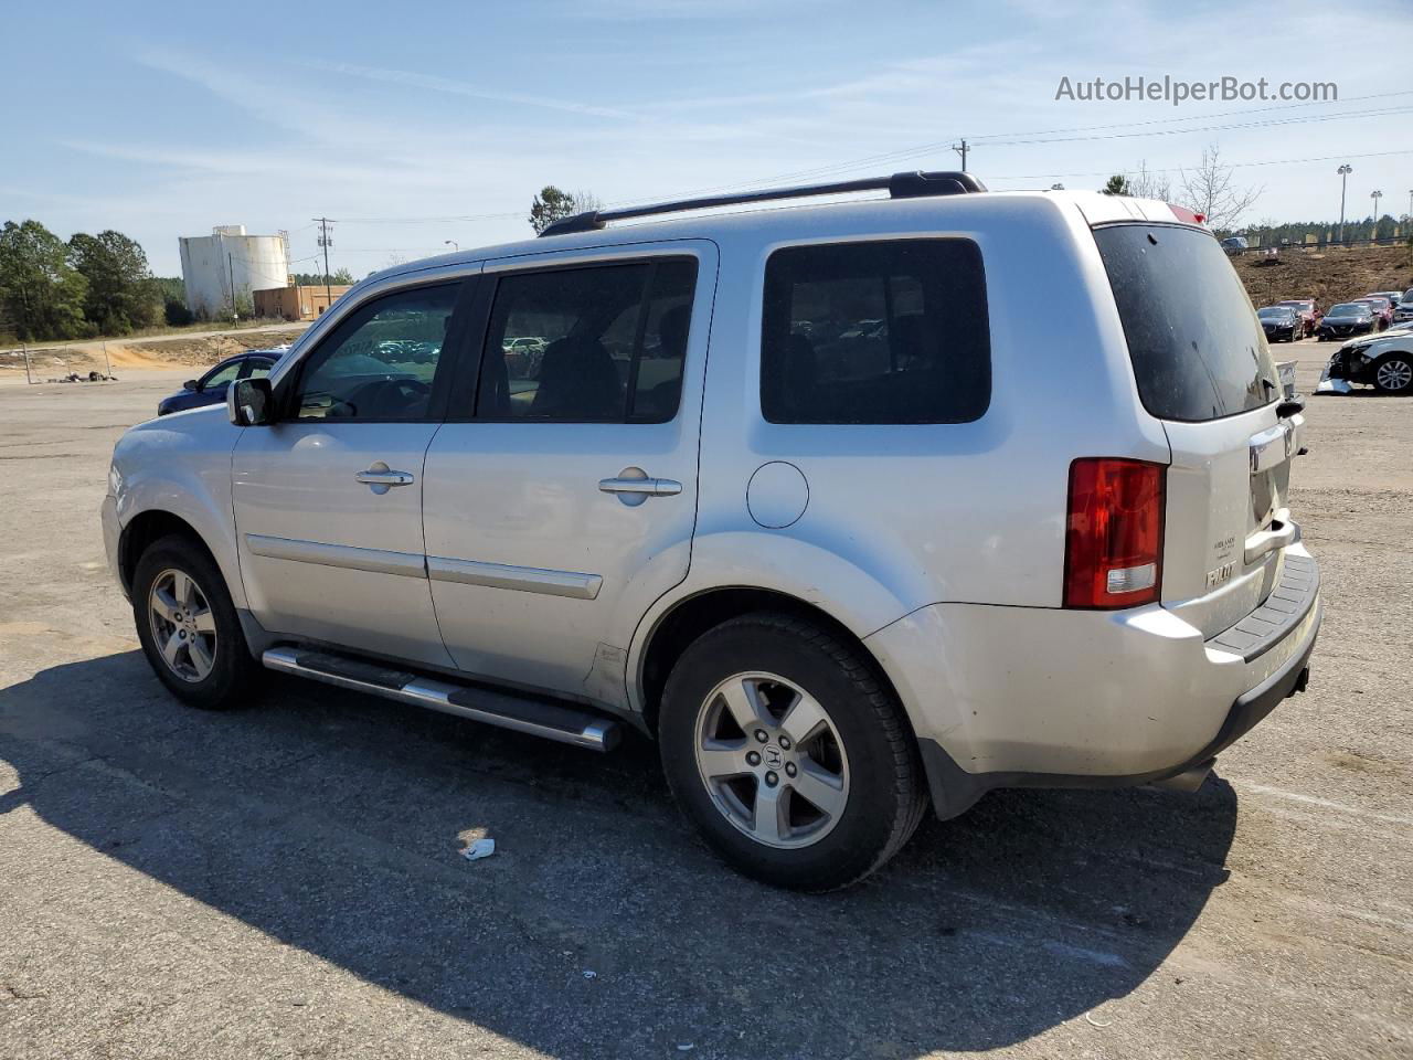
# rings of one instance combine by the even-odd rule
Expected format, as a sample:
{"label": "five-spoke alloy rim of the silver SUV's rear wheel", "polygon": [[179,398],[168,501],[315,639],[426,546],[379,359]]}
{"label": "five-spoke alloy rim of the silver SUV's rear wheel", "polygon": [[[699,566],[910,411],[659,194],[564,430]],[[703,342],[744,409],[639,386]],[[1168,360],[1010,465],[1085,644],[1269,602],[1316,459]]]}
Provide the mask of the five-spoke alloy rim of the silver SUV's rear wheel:
{"label": "five-spoke alloy rim of the silver SUV's rear wheel", "polygon": [[767,847],[818,842],[849,800],[839,731],[810,693],[770,673],[733,674],[706,695],[697,770],[721,814]]}

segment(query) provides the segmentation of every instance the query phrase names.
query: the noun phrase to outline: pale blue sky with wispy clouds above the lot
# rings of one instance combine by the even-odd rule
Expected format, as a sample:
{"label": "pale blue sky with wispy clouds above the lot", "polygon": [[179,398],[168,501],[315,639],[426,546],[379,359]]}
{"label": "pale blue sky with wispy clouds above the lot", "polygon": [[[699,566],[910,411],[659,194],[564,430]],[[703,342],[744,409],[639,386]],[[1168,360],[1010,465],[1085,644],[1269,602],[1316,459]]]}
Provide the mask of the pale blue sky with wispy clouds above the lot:
{"label": "pale blue sky with wispy clouds above the lot", "polygon": [[[1140,160],[1176,178],[1215,143],[1265,187],[1249,222],[1334,218],[1345,158],[1351,216],[1413,188],[1407,0],[17,0],[3,30],[0,220],[116,228],[160,274],[212,225],[288,230],[304,271],[311,219],[335,218],[331,260],[363,276],[526,236],[550,182],[620,204],[955,168],[961,136],[993,188]],[[1056,100],[1061,76],[1139,75],[1332,81],[1341,102]]]}

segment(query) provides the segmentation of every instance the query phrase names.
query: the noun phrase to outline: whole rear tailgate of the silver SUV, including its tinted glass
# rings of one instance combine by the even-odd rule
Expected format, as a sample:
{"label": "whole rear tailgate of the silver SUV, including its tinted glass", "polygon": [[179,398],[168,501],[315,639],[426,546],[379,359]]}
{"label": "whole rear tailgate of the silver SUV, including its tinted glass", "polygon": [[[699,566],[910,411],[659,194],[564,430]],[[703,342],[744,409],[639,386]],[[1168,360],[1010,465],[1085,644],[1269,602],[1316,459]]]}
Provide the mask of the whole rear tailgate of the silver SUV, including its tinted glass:
{"label": "whole rear tailgate of the silver SUV, including its tinted glass", "polygon": [[1284,546],[1290,459],[1303,420],[1277,417],[1276,363],[1217,239],[1193,225],[1094,229],[1139,397],[1163,423],[1163,606],[1208,637],[1270,594]]}

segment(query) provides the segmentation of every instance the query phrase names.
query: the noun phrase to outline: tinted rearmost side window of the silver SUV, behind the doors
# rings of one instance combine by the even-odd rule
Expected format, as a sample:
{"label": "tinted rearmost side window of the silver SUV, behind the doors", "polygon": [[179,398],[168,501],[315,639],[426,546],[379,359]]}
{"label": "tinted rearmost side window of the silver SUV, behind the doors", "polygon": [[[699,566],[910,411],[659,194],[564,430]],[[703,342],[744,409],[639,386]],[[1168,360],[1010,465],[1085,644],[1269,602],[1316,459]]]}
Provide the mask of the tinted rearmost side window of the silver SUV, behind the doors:
{"label": "tinted rearmost side window of the silver SUV, behind the doors", "polygon": [[770,256],[760,339],[770,423],[966,423],[989,401],[986,283],[971,240]]}

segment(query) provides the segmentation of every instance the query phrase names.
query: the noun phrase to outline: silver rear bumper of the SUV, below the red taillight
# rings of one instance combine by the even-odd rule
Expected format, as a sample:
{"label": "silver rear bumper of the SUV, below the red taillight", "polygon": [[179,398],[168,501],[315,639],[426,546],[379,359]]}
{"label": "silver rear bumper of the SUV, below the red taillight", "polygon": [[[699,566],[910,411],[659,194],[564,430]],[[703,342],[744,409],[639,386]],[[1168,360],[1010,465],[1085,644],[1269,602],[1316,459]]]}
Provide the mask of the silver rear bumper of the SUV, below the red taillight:
{"label": "silver rear bumper of the SUV, below the red taillight", "polygon": [[[1204,639],[1163,608],[934,605],[868,639],[913,721],[938,815],[993,787],[1129,787],[1210,762],[1304,687],[1318,570]],[[1280,608],[1276,613],[1270,609]]]}

